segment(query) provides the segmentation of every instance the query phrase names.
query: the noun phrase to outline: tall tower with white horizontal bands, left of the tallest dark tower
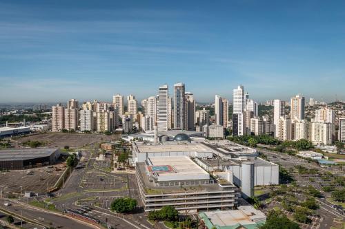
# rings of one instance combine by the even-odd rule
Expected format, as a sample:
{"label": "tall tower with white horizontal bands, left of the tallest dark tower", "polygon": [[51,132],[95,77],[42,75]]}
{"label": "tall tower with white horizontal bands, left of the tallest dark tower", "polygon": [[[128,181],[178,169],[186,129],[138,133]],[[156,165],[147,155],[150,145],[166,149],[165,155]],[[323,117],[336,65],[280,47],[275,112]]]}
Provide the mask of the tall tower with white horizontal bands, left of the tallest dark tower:
{"label": "tall tower with white horizontal bands, left of the tallest dark tower", "polygon": [[168,130],[168,85],[159,87],[157,105],[157,127],[158,131]]}

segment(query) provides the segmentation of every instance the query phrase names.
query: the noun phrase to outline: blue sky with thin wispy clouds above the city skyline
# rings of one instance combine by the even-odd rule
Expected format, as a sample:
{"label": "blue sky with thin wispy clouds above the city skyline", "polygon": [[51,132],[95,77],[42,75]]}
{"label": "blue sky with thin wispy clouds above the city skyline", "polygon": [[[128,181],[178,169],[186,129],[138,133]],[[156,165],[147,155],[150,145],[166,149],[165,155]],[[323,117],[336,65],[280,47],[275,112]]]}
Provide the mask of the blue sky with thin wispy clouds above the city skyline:
{"label": "blue sky with thin wispy clouds above the city skyline", "polygon": [[0,102],[345,100],[345,1],[0,0]]}

